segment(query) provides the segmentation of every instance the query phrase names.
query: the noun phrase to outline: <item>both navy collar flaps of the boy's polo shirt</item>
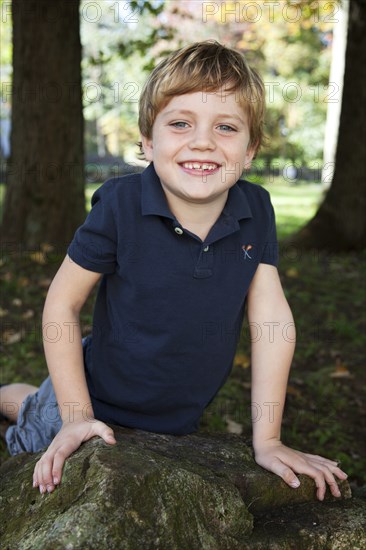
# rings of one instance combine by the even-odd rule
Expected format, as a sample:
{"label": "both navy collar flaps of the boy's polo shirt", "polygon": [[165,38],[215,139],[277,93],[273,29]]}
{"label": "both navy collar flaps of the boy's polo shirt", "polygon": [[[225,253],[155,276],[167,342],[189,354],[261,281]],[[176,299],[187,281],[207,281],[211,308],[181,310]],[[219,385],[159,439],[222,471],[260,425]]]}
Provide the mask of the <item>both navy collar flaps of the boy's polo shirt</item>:
{"label": "both navy collar flaps of the boy's polo shirt", "polygon": [[[160,179],[155,172],[154,164],[151,163],[141,174],[142,192],[141,192],[141,211],[143,216],[157,215],[165,216],[172,220],[175,219],[171,213]],[[229,189],[228,198],[223,216],[233,218],[237,221],[243,218],[252,218],[244,189],[238,183]]]}

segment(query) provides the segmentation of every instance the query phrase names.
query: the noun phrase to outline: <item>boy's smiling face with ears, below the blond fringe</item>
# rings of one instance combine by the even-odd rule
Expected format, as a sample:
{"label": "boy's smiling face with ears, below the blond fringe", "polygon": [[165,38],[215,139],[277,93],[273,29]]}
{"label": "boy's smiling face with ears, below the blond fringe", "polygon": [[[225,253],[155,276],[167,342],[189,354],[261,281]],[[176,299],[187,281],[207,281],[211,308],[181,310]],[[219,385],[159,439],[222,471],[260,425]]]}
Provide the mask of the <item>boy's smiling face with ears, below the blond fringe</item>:
{"label": "boy's smiling face with ears, below the blond fringe", "polygon": [[157,115],[152,138],[142,136],[145,157],[175,206],[225,203],[228,190],[249,168],[247,115],[235,93],[175,96]]}

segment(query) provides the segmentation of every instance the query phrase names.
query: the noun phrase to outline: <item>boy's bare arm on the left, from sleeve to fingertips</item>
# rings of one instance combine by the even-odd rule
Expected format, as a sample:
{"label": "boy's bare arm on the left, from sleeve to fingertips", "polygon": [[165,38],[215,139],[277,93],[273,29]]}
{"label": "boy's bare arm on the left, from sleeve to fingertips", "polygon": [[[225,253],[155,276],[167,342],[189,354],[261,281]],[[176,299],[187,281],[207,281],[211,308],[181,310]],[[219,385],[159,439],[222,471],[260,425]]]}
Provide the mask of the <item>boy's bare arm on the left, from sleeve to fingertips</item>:
{"label": "boy's bare arm on the left, from sleeve to fingertips", "polygon": [[107,443],[115,443],[111,428],[93,420],[79,323],[80,310],[100,277],[66,256],[47,294],[42,320],[44,348],[62,428],[34,469],[33,486],[41,493],[54,490],[66,458],[83,441],[99,435]]}

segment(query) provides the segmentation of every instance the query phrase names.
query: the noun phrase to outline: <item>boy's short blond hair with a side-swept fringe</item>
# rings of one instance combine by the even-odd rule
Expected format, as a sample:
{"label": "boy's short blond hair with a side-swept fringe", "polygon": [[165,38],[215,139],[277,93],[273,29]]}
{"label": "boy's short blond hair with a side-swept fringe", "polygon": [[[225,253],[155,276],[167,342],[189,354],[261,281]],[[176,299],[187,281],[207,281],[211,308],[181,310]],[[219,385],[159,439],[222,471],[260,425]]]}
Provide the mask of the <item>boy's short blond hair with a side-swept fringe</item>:
{"label": "boy's short blond hair with a side-swept fringe", "polygon": [[[263,81],[240,52],[216,40],[195,42],[181,48],[155,67],[139,100],[141,134],[151,139],[156,116],[174,96],[197,91],[213,92],[219,88],[237,94],[248,116],[248,147],[257,152],[264,141]],[[143,152],[141,142],[138,145]]]}

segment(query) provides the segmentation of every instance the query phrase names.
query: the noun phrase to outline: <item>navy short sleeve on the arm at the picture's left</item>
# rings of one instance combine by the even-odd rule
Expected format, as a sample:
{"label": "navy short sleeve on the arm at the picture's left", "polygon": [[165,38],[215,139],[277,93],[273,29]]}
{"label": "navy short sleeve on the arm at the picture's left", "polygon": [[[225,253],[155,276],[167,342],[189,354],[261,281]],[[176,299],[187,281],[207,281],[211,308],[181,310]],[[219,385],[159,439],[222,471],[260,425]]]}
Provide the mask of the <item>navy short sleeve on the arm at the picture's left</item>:
{"label": "navy short sleeve on the arm at the picture's left", "polygon": [[67,250],[75,263],[97,273],[113,273],[116,269],[117,229],[113,196],[113,182],[108,180],[94,193],[92,209]]}

